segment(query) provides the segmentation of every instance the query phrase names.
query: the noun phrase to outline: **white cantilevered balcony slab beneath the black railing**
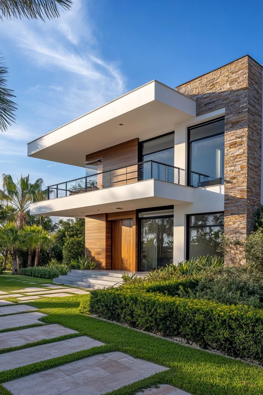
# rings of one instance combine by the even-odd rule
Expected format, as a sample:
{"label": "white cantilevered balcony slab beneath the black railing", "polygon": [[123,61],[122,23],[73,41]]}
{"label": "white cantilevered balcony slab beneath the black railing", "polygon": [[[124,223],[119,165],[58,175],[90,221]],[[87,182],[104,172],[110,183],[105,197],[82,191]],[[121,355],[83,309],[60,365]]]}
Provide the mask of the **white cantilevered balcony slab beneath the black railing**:
{"label": "white cantilevered balcony slab beneath the black railing", "polygon": [[155,179],[134,182],[82,194],[65,196],[30,204],[31,215],[85,218],[86,215],[115,213],[192,203],[194,188]]}

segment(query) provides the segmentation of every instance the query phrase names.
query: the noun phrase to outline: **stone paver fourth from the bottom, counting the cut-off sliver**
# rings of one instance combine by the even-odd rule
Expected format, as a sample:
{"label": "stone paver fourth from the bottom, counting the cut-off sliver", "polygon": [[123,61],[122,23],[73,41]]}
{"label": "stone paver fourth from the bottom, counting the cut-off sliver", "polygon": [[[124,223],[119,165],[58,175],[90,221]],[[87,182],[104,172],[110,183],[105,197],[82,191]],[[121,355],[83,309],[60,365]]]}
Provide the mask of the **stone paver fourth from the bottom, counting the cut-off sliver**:
{"label": "stone paver fourth from the bottom, counting the cut-off sliver", "polygon": [[3,332],[0,333],[0,348],[21,346],[22,344],[36,342],[37,340],[52,339],[53,337],[68,335],[70,333],[77,332],[58,324]]}

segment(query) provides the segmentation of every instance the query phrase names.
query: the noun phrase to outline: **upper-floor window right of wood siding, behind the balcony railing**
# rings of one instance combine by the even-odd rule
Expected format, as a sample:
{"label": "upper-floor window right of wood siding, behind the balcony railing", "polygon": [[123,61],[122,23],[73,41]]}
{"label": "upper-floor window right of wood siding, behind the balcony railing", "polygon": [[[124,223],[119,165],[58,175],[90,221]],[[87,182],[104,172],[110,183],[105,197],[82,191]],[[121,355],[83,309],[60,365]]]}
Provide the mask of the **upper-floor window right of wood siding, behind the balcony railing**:
{"label": "upper-floor window right of wood siding, behind the balcony railing", "polygon": [[141,161],[146,162],[140,167],[141,179],[157,178],[174,182],[174,132],[142,141],[140,150]]}

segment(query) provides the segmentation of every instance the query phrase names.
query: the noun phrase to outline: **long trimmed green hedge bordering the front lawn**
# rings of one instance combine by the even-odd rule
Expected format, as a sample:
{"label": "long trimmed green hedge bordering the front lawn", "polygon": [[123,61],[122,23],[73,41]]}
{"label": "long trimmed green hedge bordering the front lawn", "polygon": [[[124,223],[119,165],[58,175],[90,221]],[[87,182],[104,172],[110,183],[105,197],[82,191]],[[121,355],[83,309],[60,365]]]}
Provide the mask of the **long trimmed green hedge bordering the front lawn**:
{"label": "long trimmed green hedge bordering the front lawn", "polygon": [[[83,307],[82,307],[83,308]],[[203,348],[263,362],[263,311],[124,286],[91,291],[90,313]]]}

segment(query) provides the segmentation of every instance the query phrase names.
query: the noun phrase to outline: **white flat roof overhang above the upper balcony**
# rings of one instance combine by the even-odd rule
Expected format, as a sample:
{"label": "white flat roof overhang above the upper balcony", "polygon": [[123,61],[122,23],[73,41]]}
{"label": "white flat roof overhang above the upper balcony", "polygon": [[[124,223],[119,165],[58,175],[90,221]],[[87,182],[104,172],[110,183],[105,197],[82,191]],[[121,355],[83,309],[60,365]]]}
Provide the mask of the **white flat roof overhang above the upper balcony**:
{"label": "white flat roof overhang above the upper balcony", "polygon": [[28,156],[85,167],[86,154],[172,132],[194,117],[195,100],[154,80],[31,141]]}

